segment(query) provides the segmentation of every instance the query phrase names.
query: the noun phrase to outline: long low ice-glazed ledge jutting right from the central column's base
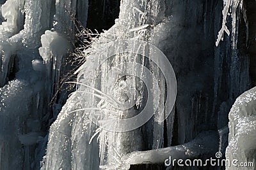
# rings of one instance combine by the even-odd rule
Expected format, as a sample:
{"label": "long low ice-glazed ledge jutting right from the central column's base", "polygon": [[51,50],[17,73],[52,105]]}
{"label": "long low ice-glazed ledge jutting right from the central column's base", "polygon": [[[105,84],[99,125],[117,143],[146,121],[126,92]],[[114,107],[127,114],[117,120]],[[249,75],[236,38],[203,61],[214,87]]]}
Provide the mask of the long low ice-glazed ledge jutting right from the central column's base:
{"label": "long low ice-glazed ledge jutting right from the central column's base", "polygon": [[[199,134],[193,141],[178,146],[170,146],[157,150],[148,150],[143,152],[129,153],[122,158],[123,169],[136,169],[143,164],[150,166],[163,166],[164,160],[168,157],[172,159],[198,159],[202,157],[211,157],[218,151],[219,136],[216,131],[207,131]],[[131,166],[136,165],[136,166]]]}

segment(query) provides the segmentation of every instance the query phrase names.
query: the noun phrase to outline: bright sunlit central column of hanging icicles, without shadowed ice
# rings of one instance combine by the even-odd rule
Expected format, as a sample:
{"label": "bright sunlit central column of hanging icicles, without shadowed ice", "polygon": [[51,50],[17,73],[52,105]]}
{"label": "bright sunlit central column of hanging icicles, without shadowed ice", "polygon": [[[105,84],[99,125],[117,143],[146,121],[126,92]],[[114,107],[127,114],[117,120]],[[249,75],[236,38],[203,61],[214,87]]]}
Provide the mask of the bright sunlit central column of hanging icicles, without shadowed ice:
{"label": "bright sunlit central column of hanging icicles, without shadowed ice", "polygon": [[[162,9],[162,10],[160,10]],[[42,169],[115,169],[124,167],[122,157],[127,153],[141,150],[143,147],[142,134],[147,135],[152,141],[148,146],[152,149],[160,148],[163,144],[163,123],[159,123],[157,115],[163,110],[164,101],[159,105],[157,113],[150,120],[148,127],[129,132],[107,131],[102,128],[108,117],[129,118],[139,113],[145,95],[143,83],[132,76],[121,78],[120,81],[111,82],[119,76],[108,71],[123,62],[138,62],[147,64],[147,60],[134,54],[122,53],[104,62],[100,68],[95,66],[105,55],[115,50],[109,42],[116,39],[134,39],[148,41],[150,29],[164,18],[164,3],[161,1],[122,1],[120,15],[115,25],[108,31],[100,34],[100,38],[93,39],[91,48],[84,53],[89,54],[86,62],[77,71],[77,90],[62,108],[58,119],[51,125],[47,154]],[[135,57],[134,57],[135,56]],[[164,78],[161,79],[159,70],[154,64],[149,64],[153,73],[159,76],[161,96],[164,96]],[[136,71],[134,67],[124,67],[128,72]],[[143,69],[137,70],[143,75]],[[116,110],[109,103],[112,97],[125,100],[125,91],[129,88],[138,90],[134,107],[129,110]],[[131,97],[132,98],[132,97]],[[162,97],[164,99],[164,97]],[[100,114],[106,114],[104,118]],[[159,112],[159,114],[158,114]],[[113,114],[115,113],[115,114]],[[98,115],[98,116],[97,116]],[[94,124],[93,118],[101,124],[99,128]],[[171,116],[173,117],[173,115]],[[171,119],[172,120],[172,119]],[[172,129],[172,122],[170,127]],[[141,132],[143,131],[143,132]],[[172,133],[170,133],[172,134]]]}

